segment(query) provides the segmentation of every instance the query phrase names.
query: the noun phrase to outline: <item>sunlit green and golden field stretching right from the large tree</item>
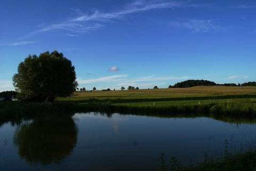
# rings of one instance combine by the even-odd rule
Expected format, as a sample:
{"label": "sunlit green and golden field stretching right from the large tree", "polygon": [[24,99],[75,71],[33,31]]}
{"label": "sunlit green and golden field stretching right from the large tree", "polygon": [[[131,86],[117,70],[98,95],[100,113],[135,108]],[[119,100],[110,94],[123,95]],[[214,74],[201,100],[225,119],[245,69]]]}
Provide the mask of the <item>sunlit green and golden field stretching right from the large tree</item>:
{"label": "sunlit green and golden field stretching right from the large tree", "polygon": [[121,113],[215,113],[256,115],[256,87],[197,86],[78,92],[59,98],[78,108],[102,108]]}

